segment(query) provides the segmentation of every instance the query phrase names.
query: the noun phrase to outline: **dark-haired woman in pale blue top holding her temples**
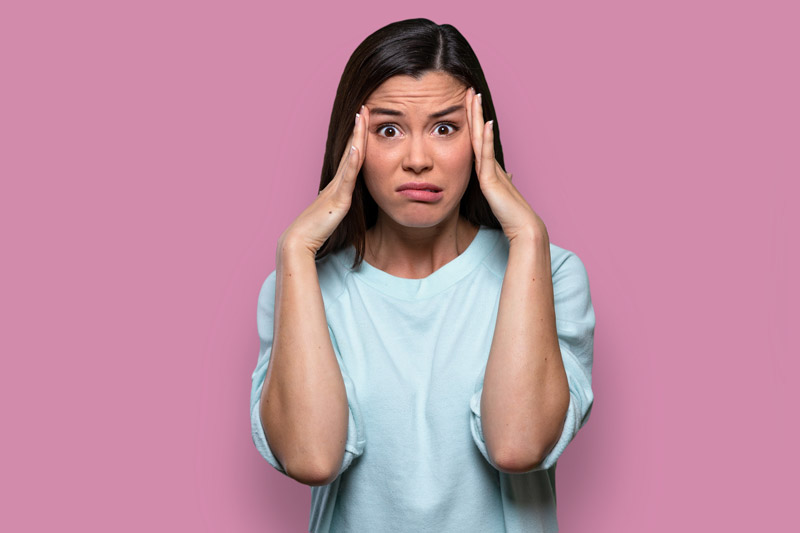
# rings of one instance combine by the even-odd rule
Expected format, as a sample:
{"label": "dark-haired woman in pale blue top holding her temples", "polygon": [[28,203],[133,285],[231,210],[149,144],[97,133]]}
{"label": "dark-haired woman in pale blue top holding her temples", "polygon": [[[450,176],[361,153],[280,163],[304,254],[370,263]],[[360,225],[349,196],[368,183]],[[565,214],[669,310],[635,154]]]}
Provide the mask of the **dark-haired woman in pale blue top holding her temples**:
{"label": "dark-haired woman in pale blue top holding her temples", "polygon": [[253,440],[312,487],[309,530],[556,531],[594,324],[467,41],[426,19],[367,37],[258,302]]}

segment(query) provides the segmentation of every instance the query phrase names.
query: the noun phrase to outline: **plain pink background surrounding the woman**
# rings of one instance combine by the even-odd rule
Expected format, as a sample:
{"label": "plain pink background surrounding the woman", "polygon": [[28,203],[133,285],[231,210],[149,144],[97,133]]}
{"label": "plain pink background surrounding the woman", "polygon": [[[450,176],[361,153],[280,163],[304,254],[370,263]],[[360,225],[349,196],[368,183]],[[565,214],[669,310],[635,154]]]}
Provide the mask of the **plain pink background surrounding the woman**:
{"label": "plain pink background surrounding the woman", "polygon": [[3,531],[305,531],[250,437],[256,298],[349,54],[417,16],[473,45],[514,184],[589,272],[562,531],[796,523],[795,2],[9,4]]}

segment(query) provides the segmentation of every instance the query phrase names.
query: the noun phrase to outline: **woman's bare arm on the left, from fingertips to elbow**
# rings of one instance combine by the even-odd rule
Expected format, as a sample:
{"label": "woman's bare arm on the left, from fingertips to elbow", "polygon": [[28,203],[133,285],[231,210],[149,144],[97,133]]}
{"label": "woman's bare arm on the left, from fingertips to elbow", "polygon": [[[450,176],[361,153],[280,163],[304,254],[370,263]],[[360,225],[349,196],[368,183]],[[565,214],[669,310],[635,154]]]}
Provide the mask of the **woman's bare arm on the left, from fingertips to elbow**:
{"label": "woman's bare arm on the left, from fingertips to elbow", "polygon": [[251,414],[269,441],[261,443],[265,451],[271,449],[286,474],[307,485],[328,484],[348,466],[348,431],[349,460],[364,444],[363,428],[349,424],[347,385],[328,334],[315,260],[350,209],[369,125],[369,110],[361,111],[336,175],[278,241],[274,335],[259,416]]}

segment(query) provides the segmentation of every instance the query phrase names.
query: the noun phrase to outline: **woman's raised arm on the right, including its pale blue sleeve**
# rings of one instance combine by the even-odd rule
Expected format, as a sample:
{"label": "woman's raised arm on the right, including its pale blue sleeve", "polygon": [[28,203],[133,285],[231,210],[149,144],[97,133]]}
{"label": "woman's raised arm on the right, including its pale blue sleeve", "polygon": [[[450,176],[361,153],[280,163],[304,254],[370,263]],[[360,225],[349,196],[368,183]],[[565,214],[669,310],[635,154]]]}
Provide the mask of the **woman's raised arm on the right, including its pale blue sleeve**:
{"label": "woman's raised arm on the right, including its pale blue sleeve", "polygon": [[470,427],[498,469],[550,468],[588,419],[594,398],[588,278],[574,254],[552,270],[544,222],[495,159],[495,124],[484,122],[472,89],[466,107],[481,191],[509,241],[489,361],[470,400]]}

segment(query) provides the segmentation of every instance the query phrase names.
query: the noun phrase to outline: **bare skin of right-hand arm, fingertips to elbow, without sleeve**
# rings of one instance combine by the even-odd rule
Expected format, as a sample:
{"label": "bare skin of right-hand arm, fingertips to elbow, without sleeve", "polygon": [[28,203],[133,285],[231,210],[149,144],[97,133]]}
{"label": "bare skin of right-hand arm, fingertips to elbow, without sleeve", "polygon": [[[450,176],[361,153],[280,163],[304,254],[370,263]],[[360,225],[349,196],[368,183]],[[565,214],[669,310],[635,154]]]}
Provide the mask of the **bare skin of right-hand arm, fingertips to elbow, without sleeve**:
{"label": "bare skin of right-hand arm, fingertips to elbow, without sleeve", "polygon": [[481,425],[500,470],[526,472],[564,429],[570,394],[556,329],[550,238],[542,219],[494,158],[492,125],[467,91],[478,181],[509,240],[508,264],[481,396]]}

